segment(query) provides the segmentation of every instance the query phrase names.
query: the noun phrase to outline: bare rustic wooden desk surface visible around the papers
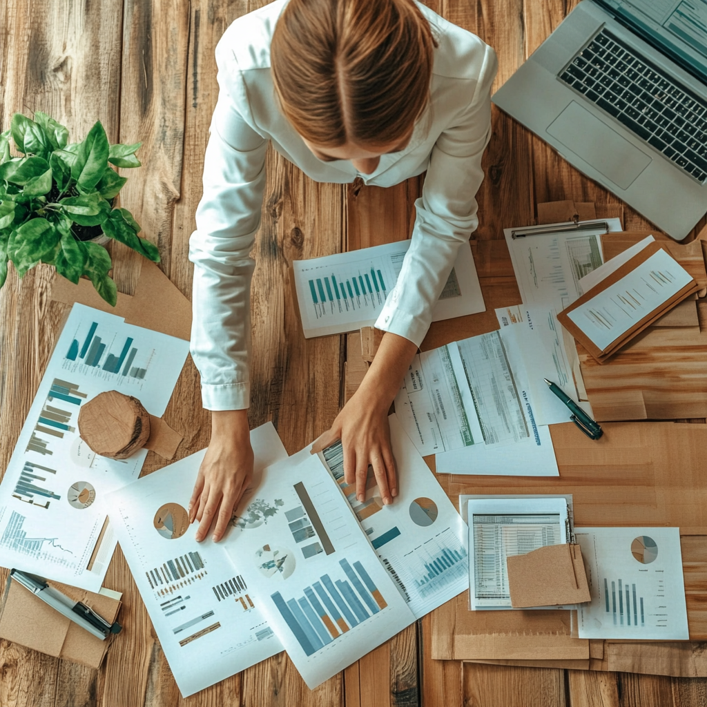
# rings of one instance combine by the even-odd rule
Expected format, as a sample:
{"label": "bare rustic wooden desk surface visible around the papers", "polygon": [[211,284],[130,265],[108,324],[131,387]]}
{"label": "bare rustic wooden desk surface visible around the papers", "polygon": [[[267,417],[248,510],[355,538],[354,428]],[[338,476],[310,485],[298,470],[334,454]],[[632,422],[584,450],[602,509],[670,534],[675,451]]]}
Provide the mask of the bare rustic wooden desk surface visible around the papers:
{"label": "bare rustic wooden desk surface visible around the papers", "polygon": [[[216,101],[214,47],[230,22],[263,3],[0,3],[0,126],[9,126],[13,112],[30,115],[44,110],[69,126],[72,139],[86,134],[100,119],[111,142],[144,141],[139,153],[144,166],[129,173],[122,205],[132,210],[148,237],[158,243],[163,271],[187,296],[192,284],[188,240],[201,195],[201,165]],[[496,86],[500,86],[575,2],[428,0],[427,4],[496,49]],[[252,310],[257,353],[250,419],[253,426],[272,419],[292,453],[327,429],[346,395],[343,383],[337,384],[343,381],[346,337],[303,339],[288,284],[288,264],[301,257],[368,245],[387,233],[404,237],[420,182],[410,180],[385,192],[356,185],[317,185],[274,153],[267,167],[263,221],[255,247]],[[519,300],[507,254],[503,255],[505,246],[498,243],[503,226],[531,223],[534,204],[540,201],[615,204],[617,199],[495,109],[485,168],[478,196],[477,267],[485,286],[510,304]],[[384,223],[378,218],[381,215]],[[626,209],[626,228],[641,230],[650,225]],[[113,258],[119,288],[130,293],[139,258],[122,247],[113,250]],[[49,301],[51,278],[51,271],[43,266],[22,283],[12,273],[0,293],[0,469],[6,467],[66,309]],[[427,344],[443,343],[445,337],[445,329],[433,330]],[[167,419],[189,431],[177,452],[180,457],[206,445],[209,417],[201,410],[192,363],[177,385]],[[151,453],[145,473],[162,465]],[[429,617],[312,693],[282,654],[182,701],[119,550],[106,585],[124,592],[125,631],[112,645],[103,668],[90,670],[0,641],[0,705],[707,704],[704,679],[431,660]]]}

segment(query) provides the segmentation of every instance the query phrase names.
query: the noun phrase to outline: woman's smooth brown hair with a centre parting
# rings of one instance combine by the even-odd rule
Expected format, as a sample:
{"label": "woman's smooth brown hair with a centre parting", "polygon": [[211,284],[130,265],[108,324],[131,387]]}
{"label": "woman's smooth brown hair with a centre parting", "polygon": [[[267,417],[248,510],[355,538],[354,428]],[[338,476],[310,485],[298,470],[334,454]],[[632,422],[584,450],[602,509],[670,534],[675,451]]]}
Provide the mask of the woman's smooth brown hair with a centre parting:
{"label": "woman's smooth brown hair with a centre parting", "polygon": [[427,105],[435,46],[413,0],[290,0],[270,47],[284,115],[325,147],[402,140]]}

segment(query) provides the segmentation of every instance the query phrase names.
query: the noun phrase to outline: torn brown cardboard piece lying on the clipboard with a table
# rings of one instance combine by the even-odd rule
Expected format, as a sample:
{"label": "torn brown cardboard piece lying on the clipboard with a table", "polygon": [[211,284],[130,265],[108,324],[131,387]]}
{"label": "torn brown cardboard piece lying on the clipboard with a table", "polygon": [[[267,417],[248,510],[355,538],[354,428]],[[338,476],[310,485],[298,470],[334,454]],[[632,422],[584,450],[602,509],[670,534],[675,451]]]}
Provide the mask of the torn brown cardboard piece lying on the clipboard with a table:
{"label": "torn brown cardboard piece lying on the clipboard with a table", "polygon": [[507,564],[513,607],[591,601],[579,545],[547,545],[525,555],[508,557]]}

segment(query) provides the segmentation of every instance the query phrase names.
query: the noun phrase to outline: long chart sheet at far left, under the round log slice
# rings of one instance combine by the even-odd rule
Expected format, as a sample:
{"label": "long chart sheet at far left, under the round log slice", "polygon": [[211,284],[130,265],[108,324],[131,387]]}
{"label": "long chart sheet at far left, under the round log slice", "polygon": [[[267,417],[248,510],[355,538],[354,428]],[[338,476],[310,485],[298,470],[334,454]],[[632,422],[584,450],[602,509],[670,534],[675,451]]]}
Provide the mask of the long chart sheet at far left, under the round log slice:
{"label": "long chart sheet at far left, under the round log slice", "polygon": [[188,352],[189,341],[73,306],[0,485],[3,566],[100,590],[116,542],[105,494],[139,477],[147,450],[95,455],[78,436],[78,411],[118,390],[162,416]]}

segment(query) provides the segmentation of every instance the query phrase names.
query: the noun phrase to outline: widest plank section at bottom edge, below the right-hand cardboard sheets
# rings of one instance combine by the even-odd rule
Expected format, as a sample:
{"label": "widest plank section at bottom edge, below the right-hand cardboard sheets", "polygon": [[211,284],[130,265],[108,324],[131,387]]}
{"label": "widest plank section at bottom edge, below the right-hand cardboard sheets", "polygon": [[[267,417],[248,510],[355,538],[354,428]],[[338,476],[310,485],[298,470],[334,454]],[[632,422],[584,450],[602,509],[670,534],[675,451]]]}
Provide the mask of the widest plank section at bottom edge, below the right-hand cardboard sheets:
{"label": "widest plank section at bottom edge, below the right-hand cardboard sheets", "polygon": [[479,707],[565,707],[564,671],[464,663],[464,701]]}

